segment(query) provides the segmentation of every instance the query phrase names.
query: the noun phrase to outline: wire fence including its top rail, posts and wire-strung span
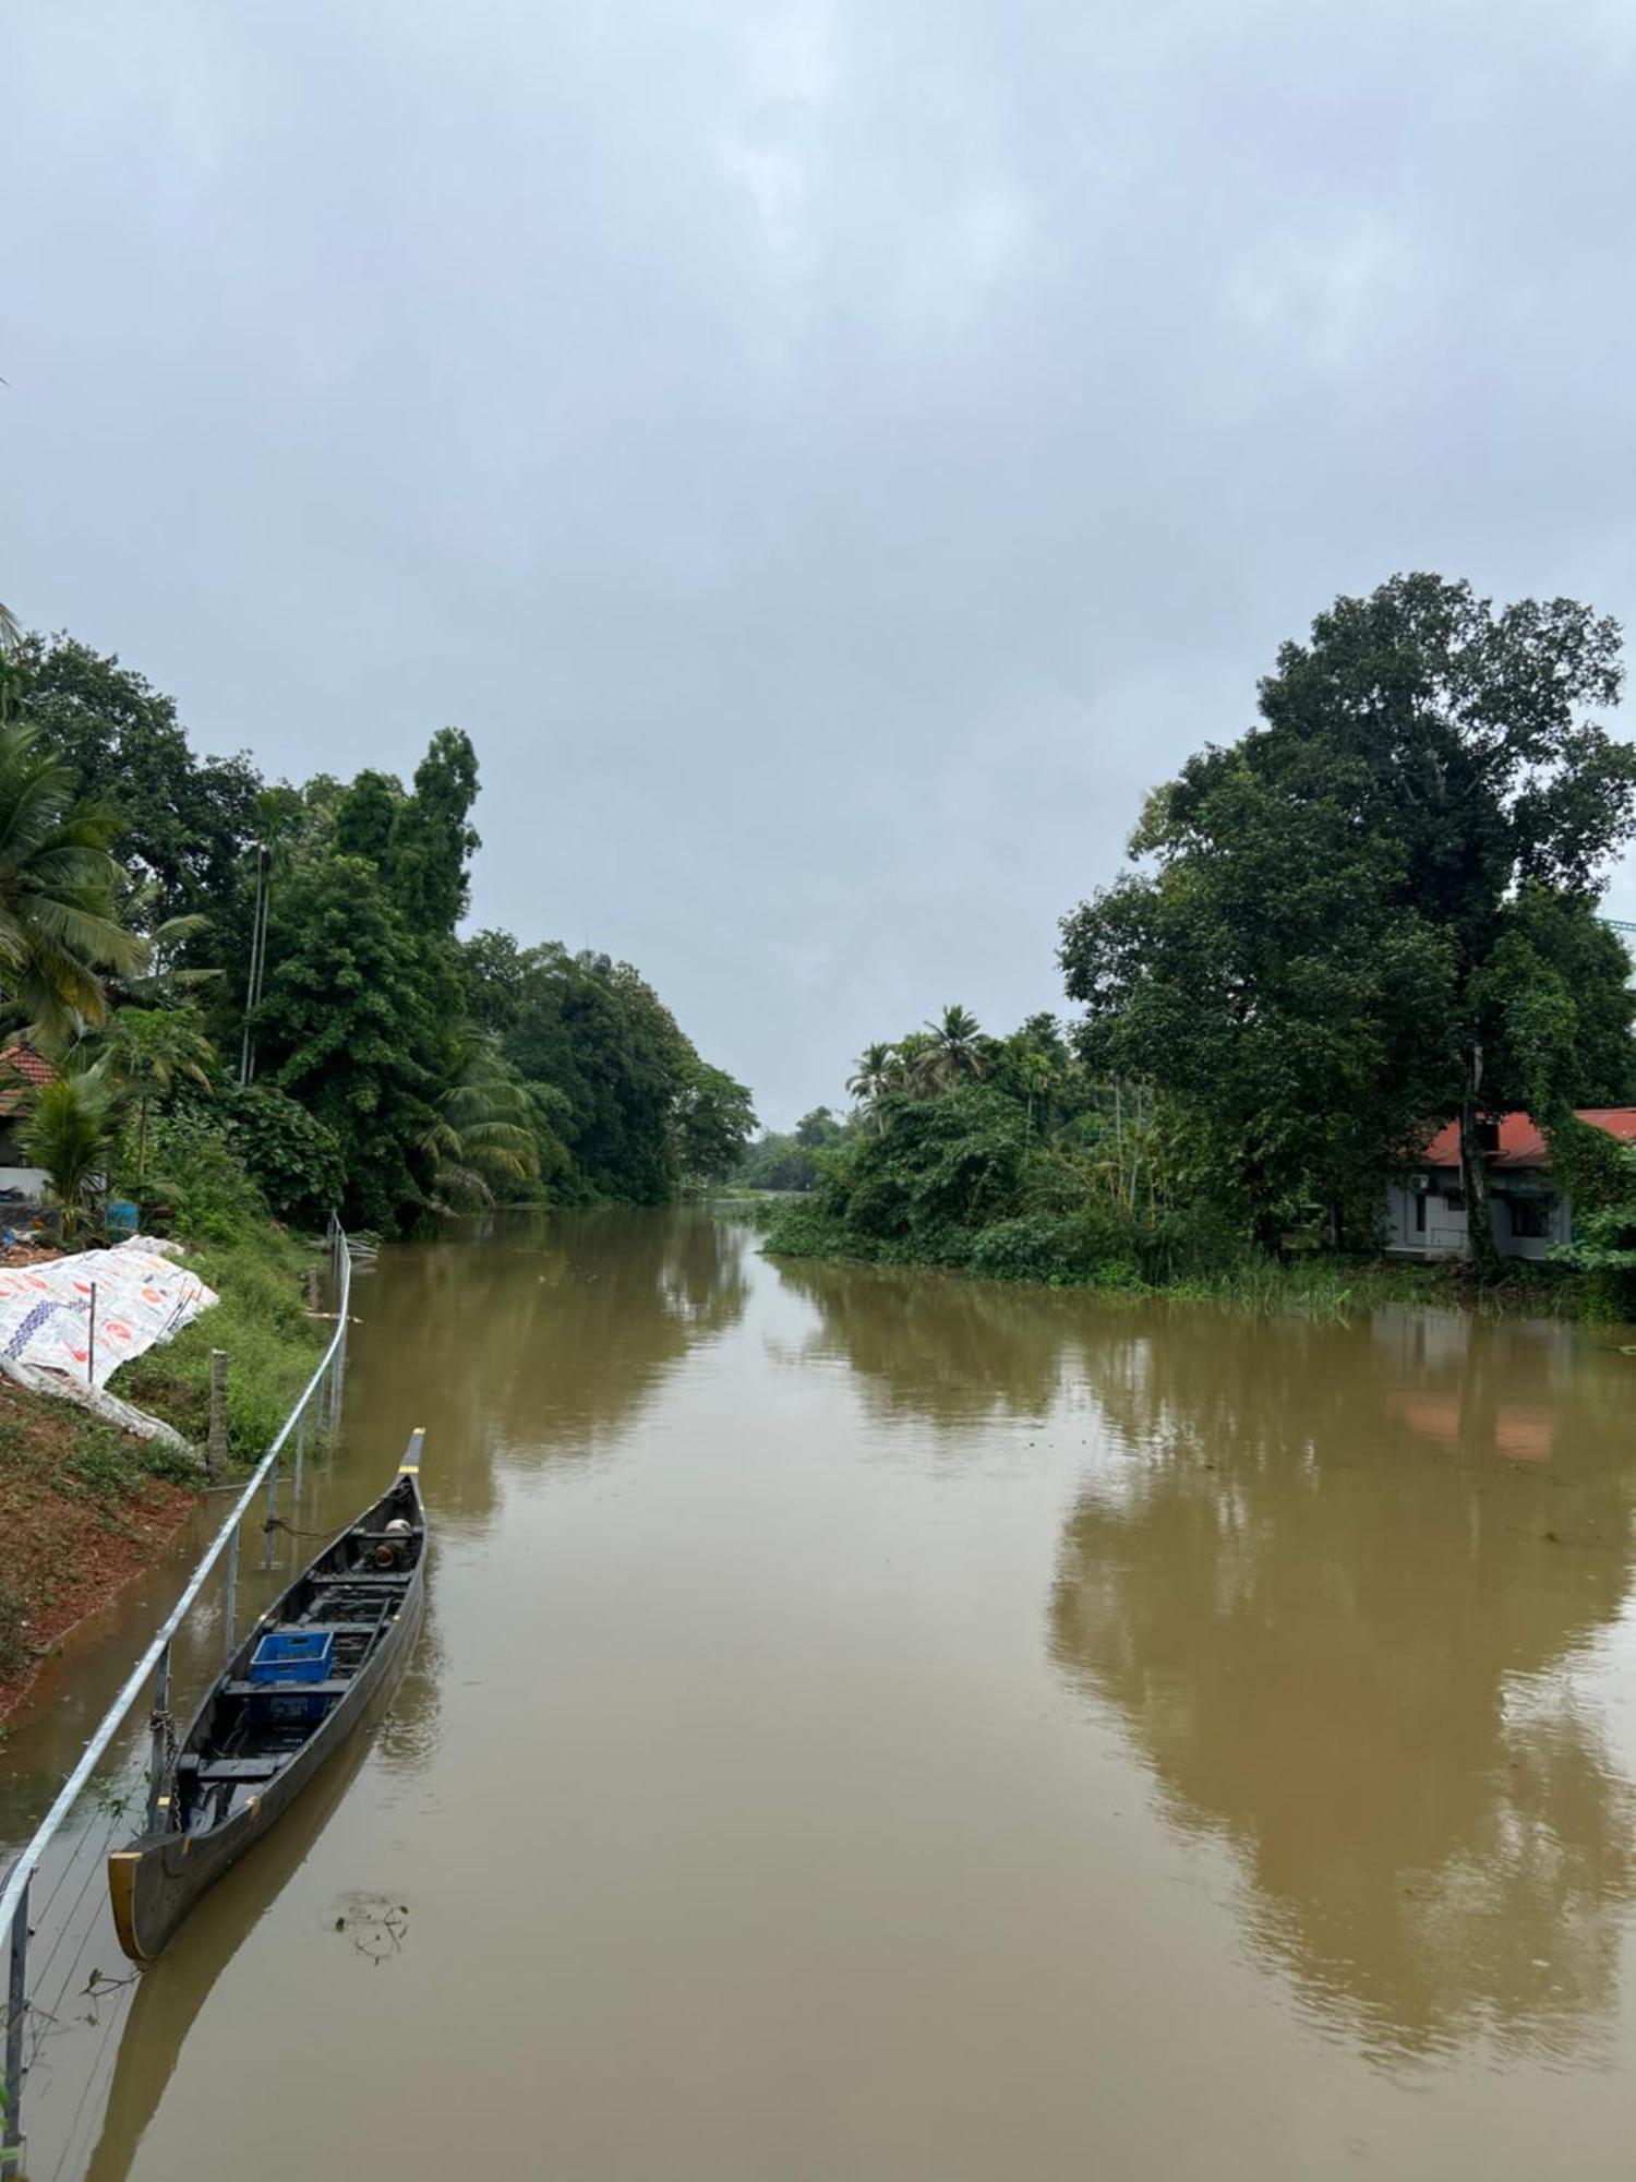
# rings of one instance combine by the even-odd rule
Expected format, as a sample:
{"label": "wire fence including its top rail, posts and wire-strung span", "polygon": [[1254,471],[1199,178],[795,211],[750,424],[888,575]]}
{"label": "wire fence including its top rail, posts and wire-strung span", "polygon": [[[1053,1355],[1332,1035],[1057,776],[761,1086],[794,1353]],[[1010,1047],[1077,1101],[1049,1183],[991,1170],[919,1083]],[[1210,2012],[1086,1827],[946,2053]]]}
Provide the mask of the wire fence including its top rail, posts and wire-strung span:
{"label": "wire fence including its top rail, posts and wire-strung span", "polygon": [[[153,1826],[175,1746],[172,1691],[203,1687],[233,1652],[240,1630],[240,1543],[251,1506],[257,1495],[266,1497],[266,1543],[260,1569],[244,1573],[270,1575],[284,1458],[290,1458],[290,1514],[299,1525],[308,1460],[334,1444],[351,1300],[351,1250],[336,1222],[329,1226],[327,1248],[336,1331],[323,1357],[0,1887],[0,1949],[7,1970],[0,2016],[0,2182],[20,2182],[24,2175],[24,2108],[35,2112],[46,2095],[52,2108],[50,2182],[79,2171],[85,2134],[96,2125],[96,2088],[107,2077],[135,1983],[135,1973],[118,1951],[113,1970],[96,1959],[107,1953],[98,1942],[109,1938],[100,1892],[105,1861],[118,1835]],[[222,1580],[207,1588],[218,1564],[225,1564]],[[140,1715],[144,1695],[146,1719]],[[37,2182],[48,2182],[44,2171],[35,2175]]]}

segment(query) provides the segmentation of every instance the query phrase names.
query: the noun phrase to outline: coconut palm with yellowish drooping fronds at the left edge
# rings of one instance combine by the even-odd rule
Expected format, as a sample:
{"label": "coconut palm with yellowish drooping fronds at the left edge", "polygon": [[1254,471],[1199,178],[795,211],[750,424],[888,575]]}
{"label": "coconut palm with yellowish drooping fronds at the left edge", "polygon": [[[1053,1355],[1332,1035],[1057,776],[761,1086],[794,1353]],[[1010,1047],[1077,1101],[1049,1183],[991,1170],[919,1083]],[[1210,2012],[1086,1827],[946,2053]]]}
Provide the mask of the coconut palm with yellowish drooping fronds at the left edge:
{"label": "coconut palm with yellowish drooping fronds at the left edge", "polygon": [[52,1047],[103,1021],[105,971],[146,962],[113,914],[118,831],[113,812],[79,799],[39,729],[0,722],[0,999]]}

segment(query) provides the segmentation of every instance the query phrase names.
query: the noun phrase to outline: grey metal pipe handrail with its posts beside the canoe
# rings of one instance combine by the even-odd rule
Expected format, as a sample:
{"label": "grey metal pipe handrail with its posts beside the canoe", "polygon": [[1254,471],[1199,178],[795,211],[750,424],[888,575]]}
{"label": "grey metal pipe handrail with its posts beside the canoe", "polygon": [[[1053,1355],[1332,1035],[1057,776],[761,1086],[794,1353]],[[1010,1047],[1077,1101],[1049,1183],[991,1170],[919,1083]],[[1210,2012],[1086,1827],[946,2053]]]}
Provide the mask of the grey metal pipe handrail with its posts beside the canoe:
{"label": "grey metal pipe handrail with its posts beside the canoe", "polygon": [[351,1250],[340,1226],[329,1222],[329,1255],[332,1255],[332,1283],[329,1292],[336,1300],[336,1331],[329,1338],[329,1346],[318,1359],[312,1377],[308,1379],[299,1401],[290,1414],[279,1425],[268,1451],[255,1464],[246,1477],[238,1499],[233,1501],[231,1514],[220,1525],[212,1543],[201,1554],[188,1578],[181,1597],[170,1608],[166,1619],[153,1634],[148,1650],[131,1667],[118,1695],[109,1709],[98,1719],[92,1730],[89,1741],[81,1750],[79,1763],[63,1781],[52,1807],[41,1818],[39,1826],[17,1853],[11,1870],[7,1872],[4,1887],[0,1887],[0,1935],[9,1933],[7,1951],[7,2014],[4,2014],[4,2106],[0,2108],[0,2182],[11,2182],[11,2178],[22,2173],[24,2160],[24,2134],[22,2134],[22,2088],[24,2088],[24,2025],[31,2012],[31,1986],[28,1986],[28,1892],[39,1872],[41,1859],[57,1839],[57,1833],[65,1824],[74,1802],[92,1781],[100,1759],[105,1757],[109,1743],[120,1733],[120,1726],[129,1719],[137,1698],[142,1695],[148,1678],[153,1678],[153,1706],[151,1706],[151,1750],[148,1750],[148,1783],[146,1783],[146,1826],[155,1824],[159,1794],[164,1783],[164,1772],[168,1763],[170,1748],[170,1645],[177,1630],[185,1621],[201,1591],[205,1588],[205,1578],[212,1573],[216,1562],[227,1554],[227,1582],[222,1595],[222,1661],[233,1654],[236,1619],[238,1619],[238,1549],[240,1549],[240,1527],[249,1514],[255,1495],[266,1488],[266,1549],[262,1567],[273,1567],[273,1519],[277,1514],[277,1492],[279,1492],[279,1455],[290,1444],[290,1434],[294,1434],[294,1471],[292,1471],[292,1499],[299,1506],[301,1499],[301,1471],[308,1453],[308,1436],[327,1434],[334,1438],[336,1425],[340,1420],[340,1394],[342,1379],[347,1370],[347,1305],[351,1300]]}

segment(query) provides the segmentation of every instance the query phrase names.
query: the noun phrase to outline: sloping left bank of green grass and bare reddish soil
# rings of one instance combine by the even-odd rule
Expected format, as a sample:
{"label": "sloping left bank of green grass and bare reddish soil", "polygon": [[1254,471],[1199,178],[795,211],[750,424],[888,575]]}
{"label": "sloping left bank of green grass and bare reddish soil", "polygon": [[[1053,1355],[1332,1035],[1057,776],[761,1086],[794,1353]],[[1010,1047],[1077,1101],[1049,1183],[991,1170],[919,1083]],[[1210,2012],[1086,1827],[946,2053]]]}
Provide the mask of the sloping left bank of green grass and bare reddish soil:
{"label": "sloping left bank of green grass and bare reddish soil", "polygon": [[[310,1250],[270,1220],[188,1246],[220,1303],[118,1372],[113,1392],[194,1447],[209,1425],[209,1353],[227,1351],[236,1468],[273,1438],[329,1333],[305,1314]],[[196,1458],[0,1381],[0,1717],[39,1658],[148,1567],[199,1501]]]}

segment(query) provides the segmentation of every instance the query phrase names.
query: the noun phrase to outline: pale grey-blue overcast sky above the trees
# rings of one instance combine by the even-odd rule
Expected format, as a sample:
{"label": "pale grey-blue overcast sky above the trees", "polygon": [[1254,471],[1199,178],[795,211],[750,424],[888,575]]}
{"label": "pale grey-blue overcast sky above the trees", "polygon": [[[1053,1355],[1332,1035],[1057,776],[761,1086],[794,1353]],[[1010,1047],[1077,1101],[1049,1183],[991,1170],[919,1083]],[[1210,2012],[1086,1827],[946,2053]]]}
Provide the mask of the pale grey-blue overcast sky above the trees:
{"label": "pale grey-blue overcast sky above the trees", "polygon": [[473,923],[637,962],[772,1124],[1054,1006],[1337,591],[1636,620],[1627,0],[22,0],[4,52],[0,598],[270,775],[469,729]]}

